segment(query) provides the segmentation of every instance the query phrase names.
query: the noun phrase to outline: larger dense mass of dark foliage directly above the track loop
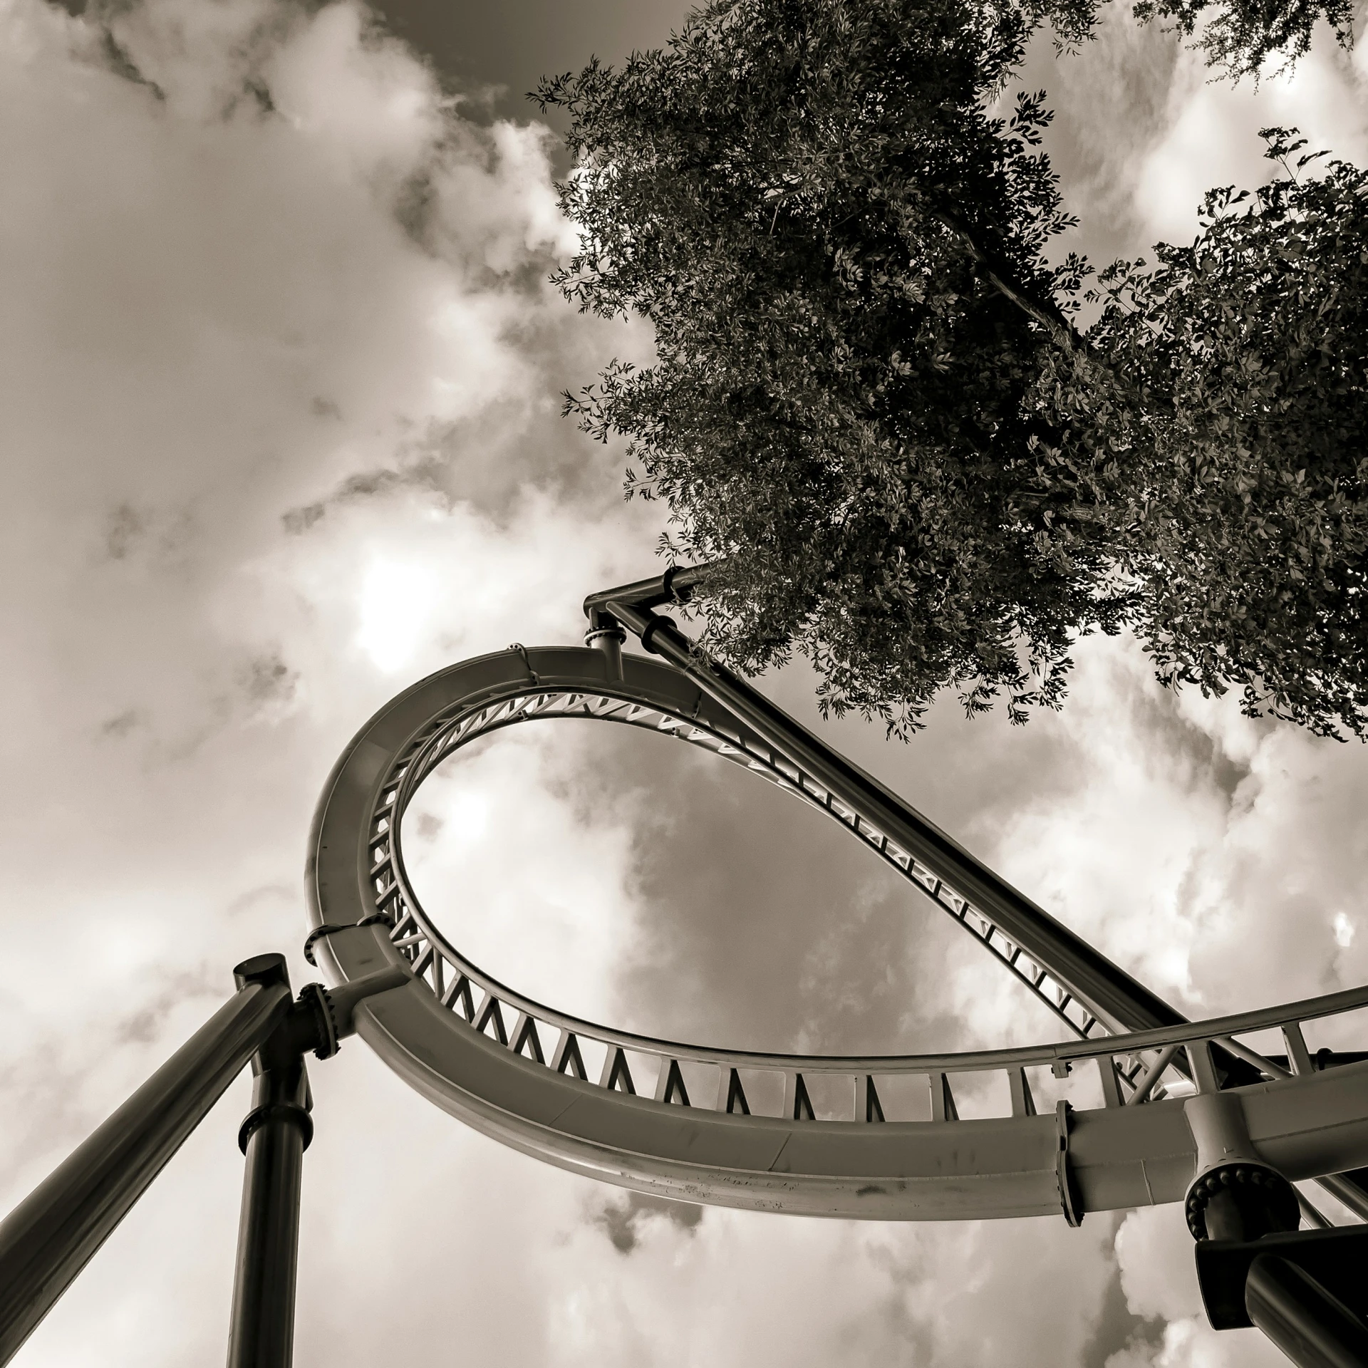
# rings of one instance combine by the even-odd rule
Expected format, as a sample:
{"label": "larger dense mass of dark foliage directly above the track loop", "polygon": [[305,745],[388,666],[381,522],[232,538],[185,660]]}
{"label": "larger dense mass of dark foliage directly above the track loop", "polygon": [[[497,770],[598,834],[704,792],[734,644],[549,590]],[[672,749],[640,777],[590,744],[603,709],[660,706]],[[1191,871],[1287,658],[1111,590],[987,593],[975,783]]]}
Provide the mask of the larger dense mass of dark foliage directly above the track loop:
{"label": "larger dense mass of dark foliage directly above the track loop", "polygon": [[[984,100],[1015,12],[743,0],[665,52],[543,85],[568,109],[581,227],[565,293],[655,326],[657,363],[572,404],[625,434],[673,550],[728,557],[709,644],[743,669],[799,646],[825,702],[915,721],[937,688],[1053,702],[1071,635],[1115,625],[1089,524],[1044,551],[1034,464],[1042,264],[1067,224],[1041,97]],[[993,283],[996,280],[996,283]]]}

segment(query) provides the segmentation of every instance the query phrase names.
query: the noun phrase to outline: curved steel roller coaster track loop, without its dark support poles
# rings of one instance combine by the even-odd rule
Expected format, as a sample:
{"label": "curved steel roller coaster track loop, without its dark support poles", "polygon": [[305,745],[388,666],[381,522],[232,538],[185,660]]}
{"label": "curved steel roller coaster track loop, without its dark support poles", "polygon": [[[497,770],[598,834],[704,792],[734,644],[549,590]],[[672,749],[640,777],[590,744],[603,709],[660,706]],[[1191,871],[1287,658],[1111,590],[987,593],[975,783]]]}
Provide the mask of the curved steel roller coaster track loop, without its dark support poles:
{"label": "curved steel roller coaster track loop, without its dark support poles", "polygon": [[[409,886],[399,828],[417,787],[449,755],[503,726],[550,717],[673,735],[840,821],[1083,1038],[934,1056],[725,1051],[598,1026],[498,982],[428,921]],[[1099,1038],[1092,1014],[936,870],[776,755],[684,674],[640,657],[622,657],[618,672],[594,650],[512,647],[401,694],[363,728],[328,780],[311,833],[308,885],[315,928],[338,928],[319,938],[337,979],[384,963],[413,975],[357,1012],[360,1034],[395,1071],[486,1134],[625,1186],[884,1219],[1059,1211],[1081,1219],[1090,1209],[1175,1201],[1193,1176],[1196,1142],[1183,1101],[1164,1100],[1166,1081],[1190,1086],[1176,1078],[1178,1056],[1200,1092],[1216,1090],[1213,1047],[1263,1077],[1227,1096],[1239,1099],[1253,1142],[1279,1171],[1297,1179],[1368,1163],[1368,1063],[1316,1073],[1301,1036],[1304,1021],[1368,1005],[1368,989]],[[1286,1041],[1283,1057],[1235,1038],[1274,1027]],[[1042,1073],[1060,1082],[1045,1082]],[[910,1077],[922,1079],[914,1101],[902,1086]],[[996,1083],[1010,1115],[959,1119],[952,1078],[960,1104],[970,1094],[981,1101],[979,1085]],[[766,1082],[770,1115],[762,1115]],[[639,1086],[653,1096],[639,1096]],[[1090,1105],[1071,1109],[1060,1100],[1052,1115],[1037,1115],[1042,1086]]]}

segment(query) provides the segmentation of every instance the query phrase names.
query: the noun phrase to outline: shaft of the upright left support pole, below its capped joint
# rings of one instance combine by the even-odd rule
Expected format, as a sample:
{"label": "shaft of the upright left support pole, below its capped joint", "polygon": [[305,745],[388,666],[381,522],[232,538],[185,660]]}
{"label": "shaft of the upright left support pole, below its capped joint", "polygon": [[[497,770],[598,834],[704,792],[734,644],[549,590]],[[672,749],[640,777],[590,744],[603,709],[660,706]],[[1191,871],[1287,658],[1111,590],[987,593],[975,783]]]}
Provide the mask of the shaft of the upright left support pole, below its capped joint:
{"label": "shaft of the upright left support pole, below its capped joint", "polygon": [[[271,1073],[276,1073],[272,1070]],[[298,1075],[302,1079],[304,1066]],[[267,1078],[259,1077],[259,1082]],[[275,1082],[275,1081],[272,1081]],[[272,1107],[300,1096],[290,1079],[268,1082],[259,1103],[272,1108],[246,1142],[242,1222],[233,1287],[228,1368],[290,1368],[294,1353],[294,1285],[300,1254],[300,1186],[305,1112]]]}

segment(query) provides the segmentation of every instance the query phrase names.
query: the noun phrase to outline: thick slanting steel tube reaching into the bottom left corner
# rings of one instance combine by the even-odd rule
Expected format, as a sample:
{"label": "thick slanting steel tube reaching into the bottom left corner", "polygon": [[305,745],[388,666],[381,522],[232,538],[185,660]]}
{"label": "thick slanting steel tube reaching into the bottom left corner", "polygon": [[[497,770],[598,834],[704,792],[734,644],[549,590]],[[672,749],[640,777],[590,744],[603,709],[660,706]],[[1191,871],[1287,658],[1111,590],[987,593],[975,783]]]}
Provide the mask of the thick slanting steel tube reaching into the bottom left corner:
{"label": "thick slanting steel tube reaching into the bottom left corner", "polygon": [[249,984],[0,1224],[0,1364],[129,1213],[290,1007]]}

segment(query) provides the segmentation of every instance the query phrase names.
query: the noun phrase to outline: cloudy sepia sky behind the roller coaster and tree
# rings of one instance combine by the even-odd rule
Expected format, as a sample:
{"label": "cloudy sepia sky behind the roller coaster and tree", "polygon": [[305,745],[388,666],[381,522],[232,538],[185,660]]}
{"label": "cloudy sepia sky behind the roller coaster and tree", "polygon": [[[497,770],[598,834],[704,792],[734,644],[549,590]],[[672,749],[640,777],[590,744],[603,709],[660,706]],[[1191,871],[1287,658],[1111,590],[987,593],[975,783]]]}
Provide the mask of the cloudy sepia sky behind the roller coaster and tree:
{"label": "cloudy sepia sky behind the roller coaster and tree", "polygon": [[[683,7],[0,0],[0,1209],[263,951],[313,977],[304,845],[391,694],[575,642],[651,573],[657,509],[561,390],[639,324],[547,285],[573,250],[539,74],[659,44]],[[1023,83],[1097,260],[1265,174],[1257,130],[1368,155],[1368,68],[1212,83],[1123,5]],[[1059,715],[937,705],[910,746],[761,687],[1190,1015],[1361,984],[1368,754],[1160,691],[1081,644]],[[535,997],[772,1049],[1056,1038],[878,863],[662,737],[505,732],[434,776],[430,911]],[[1315,1049],[1317,1040],[1311,1033]],[[1280,1360],[1205,1327],[1181,1212],[881,1224],[637,1198],[502,1149],[358,1041],[312,1067],[297,1358],[673,1368]],[[239,1079],[15,1360],[222,1361]]]}

